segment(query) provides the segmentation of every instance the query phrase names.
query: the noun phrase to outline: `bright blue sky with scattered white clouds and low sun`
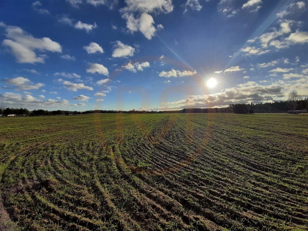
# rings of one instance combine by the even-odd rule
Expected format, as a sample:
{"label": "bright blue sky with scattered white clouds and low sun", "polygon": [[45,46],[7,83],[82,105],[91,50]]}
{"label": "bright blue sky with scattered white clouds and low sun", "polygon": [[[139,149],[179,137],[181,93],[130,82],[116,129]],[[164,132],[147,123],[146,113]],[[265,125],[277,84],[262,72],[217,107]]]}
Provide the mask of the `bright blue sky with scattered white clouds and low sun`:
{"label": "bright blue sky with scattered white clouds and low sun", "polygon": [[0,4],[0,107],[174,110],[308,96],[308,1]]}

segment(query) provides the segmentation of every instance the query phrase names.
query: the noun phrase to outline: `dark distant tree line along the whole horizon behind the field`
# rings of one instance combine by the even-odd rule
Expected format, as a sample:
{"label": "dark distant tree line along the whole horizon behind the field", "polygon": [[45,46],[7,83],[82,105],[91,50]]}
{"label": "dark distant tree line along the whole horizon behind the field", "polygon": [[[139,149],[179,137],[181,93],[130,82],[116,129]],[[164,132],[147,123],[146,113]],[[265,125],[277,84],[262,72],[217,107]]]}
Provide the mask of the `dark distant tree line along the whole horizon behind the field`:
{"label": "dark distant tree line along the whole horizon behind the field", "polygon": [[[294,98],[293,98],[294,99]],[[40,116],[40,115],[65,115],[69,114],[94,114],[94,113],[279,113],[292,110],[308,110],[308,97],[301,100],[288,100],[288,101],[277,101],[272,103],[236,103],[230,104],[228,107],[221,108],[184,108],[178,111],[136,111],[135,109],[131,111],[116,111],[116,110],[89,110],[89,111],[47,111],[43,109],[35,109],[29,111],[26,108],[0,108],[0,114],[4,116],[15,114],[18,116]]]}

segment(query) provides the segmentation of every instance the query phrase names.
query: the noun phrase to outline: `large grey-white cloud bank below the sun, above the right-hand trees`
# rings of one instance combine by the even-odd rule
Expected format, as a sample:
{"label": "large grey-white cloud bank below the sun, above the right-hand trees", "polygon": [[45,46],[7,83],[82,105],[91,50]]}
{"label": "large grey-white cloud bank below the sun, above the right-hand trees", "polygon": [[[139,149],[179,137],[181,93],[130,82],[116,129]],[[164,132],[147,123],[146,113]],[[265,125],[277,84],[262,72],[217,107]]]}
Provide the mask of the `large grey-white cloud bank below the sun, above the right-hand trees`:
{"label": "large grey-white cloud bank below the sun, above the right-hand trees", "polygon": [[[189,95],[185,99],[166,102],[166,106],[145,108],[144,110],[176,110],[185,107],[227,106],[232,103],[265,103],[287,100],[289,92],[296,90],[298,95],[306,97],[308,82],[305,78],[295,80],[277,80],[267,85],[249,81],[236,87],[208,95]],[[138,109],[140,110],[140,109]]]}

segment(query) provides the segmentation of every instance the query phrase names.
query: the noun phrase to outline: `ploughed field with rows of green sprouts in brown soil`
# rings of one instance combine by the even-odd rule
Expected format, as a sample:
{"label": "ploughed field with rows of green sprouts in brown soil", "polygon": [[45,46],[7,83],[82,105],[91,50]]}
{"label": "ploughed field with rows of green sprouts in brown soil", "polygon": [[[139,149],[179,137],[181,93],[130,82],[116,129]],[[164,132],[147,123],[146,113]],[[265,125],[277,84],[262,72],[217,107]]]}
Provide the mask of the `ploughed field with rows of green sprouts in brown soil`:
{"label": "ploughed field with rows of green sprouts in brown soil", "polygon": [[0,230],[307,230],[307,115],[48,116],[0,127]]}

